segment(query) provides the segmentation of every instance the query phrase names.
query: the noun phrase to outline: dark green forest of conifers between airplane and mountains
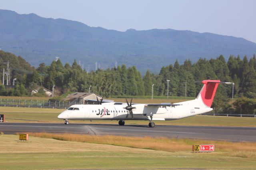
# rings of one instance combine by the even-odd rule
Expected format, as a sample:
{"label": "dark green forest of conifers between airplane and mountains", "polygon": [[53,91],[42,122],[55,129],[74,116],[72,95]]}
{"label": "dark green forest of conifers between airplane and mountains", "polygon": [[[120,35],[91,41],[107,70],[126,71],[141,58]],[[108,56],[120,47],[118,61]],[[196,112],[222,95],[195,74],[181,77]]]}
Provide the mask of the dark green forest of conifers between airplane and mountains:
{"label": "dark green forest of conifers between airplane and mountains", "polygon": [[[234,97],[249,100],[254,105],[256,98],[256,56],[230,55],[228,61],[220,55],[216,59],[207,60],[200,58],[196,63],[186,59],[183,64],[176,60],[172,65],[162,67],[159,74],[146,71],[141,75],[140,71],[133,67],[122,64],[118,67],[106,70],[86,71],[74,60],[72,65],[62,64],[61,60],[52,61],[50,65],[41,63],[39,67],[31,67],[22,57],[16,57],[12,53],[0,51],[0,69],[6,68],[5,62],[9,60],[11,79],[16,78],[15,88],[6,89],[0,85],[0,95],[24,96],[31,95],[31,89],[42,86],[52,89],[55,85],[55,94],[61,95],[68,91],[88,92],[99,94],[103,97],[112,96],[149,96],[152,84],[154,84],[155,96],[167,95],[167,80],[170,80],[169,96],[196,97],[200,91],[204,79],[220,79],[234,83]],[[165,65],[166,63],[163,63]],[[2,77],[2,76],[1,76]],[[230,109],[228,101],[232,97],[232,84],[219,86],[214,100],[214,105],[222,110]],[[244,100],[240,101],[243,102]],[[222,101],[222,102],[220,102]],[[223,102],[224,101],[224,102]],[[236,101],[239,103],[239,101]],[[249,103],[250,103],[249,102]],[[235,102],[234,102],[235,103]],[[233,103],[233,104],[234,104]],[[248,102],[247,102],[248,103]],[[254,108],[250,107],[254,112]]]}

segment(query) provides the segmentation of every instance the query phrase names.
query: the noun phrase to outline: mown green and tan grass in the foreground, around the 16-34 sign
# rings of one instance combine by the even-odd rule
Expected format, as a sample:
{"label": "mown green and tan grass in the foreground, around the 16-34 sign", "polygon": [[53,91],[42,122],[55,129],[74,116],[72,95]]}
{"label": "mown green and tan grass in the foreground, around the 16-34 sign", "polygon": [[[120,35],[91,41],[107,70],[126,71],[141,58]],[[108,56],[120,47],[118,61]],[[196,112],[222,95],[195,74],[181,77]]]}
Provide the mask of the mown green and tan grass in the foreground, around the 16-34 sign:
{"label": "mown green and tan grass in the foreground, around the 16-34 sign", "polygon": [[[102,138],[102,140],[105,139]],[[144,138],[142,140],[147,143]],[[152,142],[151,140],[154,140],[154,138],[150,139],[150,142]],[[184,139],[162,141],[169,142],[165,146],[169,144],[170,148],[178,148],[175,152],[109,144],[71,142],[33,136],[30,136],[28,141],[21,142],[18,140],[17,135],[5,134],[0,135],[0,141],[1,146],[4,146],[0,150],[1,169],[8,170],[103,168],[254,169],[256,167],[255,143],[250,145],[245,143],[243,146],[247,146],[246,150],[242,151],[243,148],[234,147],[232,143],[232,146],[225,149],[222,146],[229,145],[229,142],[219,142],[215,143],[216,151],[213,153],[192,153],[192,143],[196,142],[198,144],[198,142],[206,141]],[[125,139],[122,141],[126,143]]]}

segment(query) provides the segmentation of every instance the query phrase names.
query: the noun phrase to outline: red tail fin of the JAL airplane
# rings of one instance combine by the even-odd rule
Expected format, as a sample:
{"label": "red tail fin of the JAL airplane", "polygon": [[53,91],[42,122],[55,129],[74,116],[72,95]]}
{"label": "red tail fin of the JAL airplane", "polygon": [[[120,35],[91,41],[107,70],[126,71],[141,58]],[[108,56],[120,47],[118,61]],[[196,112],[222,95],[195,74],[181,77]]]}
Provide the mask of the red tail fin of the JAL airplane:
{"label": "red tail fin of the JAL airplane", "polygon": [[203,80],[202,83],[204,86],[198,94],[197,99],[201,97],[204,104],[207,107],[211,107],[220,80]]}

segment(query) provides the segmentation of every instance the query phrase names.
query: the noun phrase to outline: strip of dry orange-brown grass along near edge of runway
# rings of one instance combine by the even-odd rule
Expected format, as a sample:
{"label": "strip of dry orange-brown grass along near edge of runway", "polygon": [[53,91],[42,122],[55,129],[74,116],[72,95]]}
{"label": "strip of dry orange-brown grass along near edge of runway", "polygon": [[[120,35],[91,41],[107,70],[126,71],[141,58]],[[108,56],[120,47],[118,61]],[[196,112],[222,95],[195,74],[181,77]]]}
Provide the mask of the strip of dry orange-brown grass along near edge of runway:
{"label": "strip of dry orange-brown grass along near edge of runway", "polygon": [[116,146],[128,146],[132,148],[144,148],[162,150],[168,152],[190,152],[193,144],[214,144],[215,150],[234,157],[256,158],[256,143],[252,142],[227,142],[197,140],[186,138],[166,137],[127,137],[127,136],[92,136],[87,134],[55,134],[55,133],[29,133],[30,136],[53,138],[57,140],[88,142],[97,144],[111,144]]}

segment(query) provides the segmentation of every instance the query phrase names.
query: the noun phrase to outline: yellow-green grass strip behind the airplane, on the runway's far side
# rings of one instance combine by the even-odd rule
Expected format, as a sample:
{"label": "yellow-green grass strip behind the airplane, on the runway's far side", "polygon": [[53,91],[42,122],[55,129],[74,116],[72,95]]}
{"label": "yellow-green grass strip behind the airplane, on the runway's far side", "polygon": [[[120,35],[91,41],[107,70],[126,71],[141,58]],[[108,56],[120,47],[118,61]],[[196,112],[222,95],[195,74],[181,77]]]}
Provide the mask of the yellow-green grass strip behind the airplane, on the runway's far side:
{"label": "yellow-green grass strip behind the airplane, on the runway's far side", "polygon": [[[38,109],[0,107],[0,113],[5,115],[6,122],[52,122],[63,123],[57,116],[64,109]],[[69,121],[70,123],[102,123],[118,124],[118,121]],[[193,116],[176,121],[154,121],[156,125],[198,125],[198,126],[236,126],[256,127],[256,118],[247,117],[219,117],[219,116]],[[126,121],[127,124],[147,125],[148,121]]]}

